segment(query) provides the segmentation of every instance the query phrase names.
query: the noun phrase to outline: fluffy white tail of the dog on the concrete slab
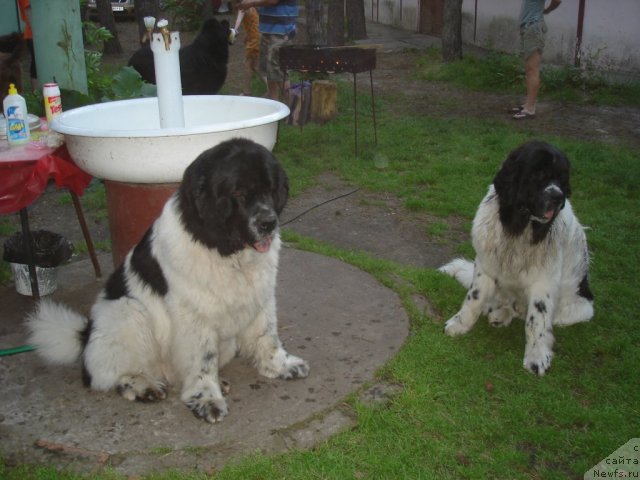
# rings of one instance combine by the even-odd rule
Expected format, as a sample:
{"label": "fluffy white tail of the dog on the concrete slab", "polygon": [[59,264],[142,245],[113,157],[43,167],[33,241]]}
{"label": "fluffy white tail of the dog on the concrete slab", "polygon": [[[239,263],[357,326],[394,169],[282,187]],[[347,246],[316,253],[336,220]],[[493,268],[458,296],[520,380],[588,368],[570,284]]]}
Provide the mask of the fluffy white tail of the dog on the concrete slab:
{"label": "fluffy white tail of the dog on the concrete slab", "polygon": [[80,358],[88,325],[86,317],[46,299],[27,318],[29,342],[47,362],[60,365]]}

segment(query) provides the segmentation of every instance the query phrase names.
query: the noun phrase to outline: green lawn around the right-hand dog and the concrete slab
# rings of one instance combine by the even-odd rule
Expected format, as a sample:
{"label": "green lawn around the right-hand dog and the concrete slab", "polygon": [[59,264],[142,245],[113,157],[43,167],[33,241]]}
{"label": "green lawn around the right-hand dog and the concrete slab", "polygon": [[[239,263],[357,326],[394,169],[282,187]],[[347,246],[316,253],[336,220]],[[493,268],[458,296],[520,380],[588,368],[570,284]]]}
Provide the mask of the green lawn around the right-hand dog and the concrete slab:
{"label": "green lawn around the right-hand dog and the concrete slab", "polygon": [[[428,228],[431,235],[445,232],[451,216],[469,222],[502,160],[528,139],[507,122],[434,120],[410,109],[403,117],[391,116],[383,93],[378,95],[376,146],[363,94],[361,148],[355,157],[351,94],[348,84],[340,85],[340,115],[325,126],[281,128],[275,153],[286,167],[292,194],[330,171],[354,187],[390,192],[407,208],[437,216]],[[401,391],[384,406],[364,405],[349,396],[343,403],[356,418],[352,430],[312,451],[249,455],[213,478],[582,478],[638,436],[640,155],[617,145],[545,139],[572,161],[572,203],[589,227],[596,296],[591,322],[556,329],[549,374],[537,378],[522,368],[522,322],[492,329],[480,321],[468,335],[446,337],[442,322],[464,295],[454,280],[285,229],[286,242],[353,264],[397,292],[411,334],[377,378],[400,385]],[[468,243],[460,251],[472,254]],[[437,314],[420,311],[415,295],[427,298]],[[0,477],[77,478],[46,468],[1,465]],[[107,472],[89,478],[118,477]],[[205,476],[166,472],[146,478]]]}

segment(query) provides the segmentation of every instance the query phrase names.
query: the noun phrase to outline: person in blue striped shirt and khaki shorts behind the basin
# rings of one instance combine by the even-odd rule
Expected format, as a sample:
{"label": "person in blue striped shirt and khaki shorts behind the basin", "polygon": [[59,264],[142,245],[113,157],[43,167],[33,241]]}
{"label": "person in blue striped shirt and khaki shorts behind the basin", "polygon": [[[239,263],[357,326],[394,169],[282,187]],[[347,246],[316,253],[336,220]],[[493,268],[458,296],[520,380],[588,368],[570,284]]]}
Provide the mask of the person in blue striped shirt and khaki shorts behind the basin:
{"label": "person in blue striped shirt and khaki shorts behind the basin", "polygon": [[279,50],[296,35],[298,0],[242,0],[238,4],[242,11],[251,7],[258,7],[260,17],[260,71],[267,77],[266,96],[279,100],[286,79]]}

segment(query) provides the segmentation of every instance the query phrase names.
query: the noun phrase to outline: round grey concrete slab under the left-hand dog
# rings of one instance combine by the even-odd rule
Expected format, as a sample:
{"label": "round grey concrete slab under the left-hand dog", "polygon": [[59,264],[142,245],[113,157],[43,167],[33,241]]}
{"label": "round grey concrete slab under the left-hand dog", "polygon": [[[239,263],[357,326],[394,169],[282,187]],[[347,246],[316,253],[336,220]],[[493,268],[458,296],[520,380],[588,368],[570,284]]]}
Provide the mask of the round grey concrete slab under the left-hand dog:
{"label": "round grey concrete slab under the left-hand dog", "polygon": [[[110,256],[101,263],[110,265]],[[89,262],[61,267],[54,298],[87,312],[102,282]],[[0,290],[0,348],[25,342],[32,308]],[[269,380],[237,359],[221,372],[231,382],[229,415],[197,420],[177,392],[158,404],[131,403],[85,389],[76,367],[45,366],[34,353],[0,357],[0,452],[8,462],[88,471],[110,465],[129,475],[166,468],[220,468],[253,451],[308,448],[351,425],[345,395],[372,380],[408,333],[399,298],[370,275],[335,259],[283,249],[278,285],[280,337],[311,364],[309,378]]]}

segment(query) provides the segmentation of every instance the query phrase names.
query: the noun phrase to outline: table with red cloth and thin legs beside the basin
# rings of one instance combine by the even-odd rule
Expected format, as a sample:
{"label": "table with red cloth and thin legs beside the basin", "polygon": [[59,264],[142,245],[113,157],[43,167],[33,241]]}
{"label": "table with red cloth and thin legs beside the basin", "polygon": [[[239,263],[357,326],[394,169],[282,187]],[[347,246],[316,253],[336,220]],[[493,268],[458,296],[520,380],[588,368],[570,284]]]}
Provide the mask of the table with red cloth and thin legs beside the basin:
{"label": "table with red cloth and thin legs beside the basin", "polygon": [[100,266],[78,199],[91,182],[91,175],[73,163],[64,144],[60,147],[49,147],[36,141],[19,147],[9,147],[6,140],[0,141],[0,214],[20,213],[25,252],[30,259],[31,291],[35,298],[39,297],[39,292],[27,207],[42,195],[51,179],[58,188],[66,188],[71,194],[96,276],[99,277]]}

